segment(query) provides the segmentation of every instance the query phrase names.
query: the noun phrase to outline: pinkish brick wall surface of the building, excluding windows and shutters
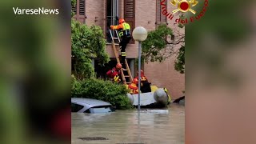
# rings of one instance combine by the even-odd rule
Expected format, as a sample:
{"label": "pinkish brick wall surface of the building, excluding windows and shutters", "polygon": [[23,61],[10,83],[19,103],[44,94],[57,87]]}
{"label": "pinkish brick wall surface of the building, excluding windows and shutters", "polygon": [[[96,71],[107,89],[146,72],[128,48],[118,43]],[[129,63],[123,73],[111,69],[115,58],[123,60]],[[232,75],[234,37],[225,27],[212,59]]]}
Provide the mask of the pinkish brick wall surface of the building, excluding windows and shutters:
{"label": "pinkish brick wall surface of the building, excluding windows and shutters", "polygon": [[[86,24],[102,26],[105,30],[104,21],[106,17],[106,0],[86,0]],[[171,11],[176,9],[167,0],[167,10]],[[123,18],[124,0],[119,0],[119,18]],[[120,15],[121,14],[121,15]],[[98,22],[95,22],[95,17],[98,17]],[[177,27],[175,19],[178,14],[174,14],[172,21],[167,19],[168,26],[171,28]],[[136,0],[135,1],[135,26],[143,26],[146,30],[154,30],[156,22],[156,0]],[[184,32],[184,31],[183,31]],[[177,47],[178,48],[178,47]],[[114,58],[114,53],[111,45],[106,45],[106,50],[110,54],[110,58]],[[129,44],[126,48],[127,58],[138,57],[138,42]],[[179,74],[174,70],[174,57],[166,59],[165,62],[150,62],[144,66],[145,74],[150,82],[160,87],[166,87],[170,90],[173,99],[182,96],[182,90],[185,90],[185,75]]]}

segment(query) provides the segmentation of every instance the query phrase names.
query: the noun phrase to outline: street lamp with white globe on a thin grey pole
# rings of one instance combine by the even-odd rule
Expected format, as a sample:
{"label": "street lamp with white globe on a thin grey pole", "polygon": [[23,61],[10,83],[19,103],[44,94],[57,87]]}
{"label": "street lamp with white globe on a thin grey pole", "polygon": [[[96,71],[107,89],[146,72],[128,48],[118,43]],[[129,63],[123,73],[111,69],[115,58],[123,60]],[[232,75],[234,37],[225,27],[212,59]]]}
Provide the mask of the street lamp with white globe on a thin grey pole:
{"label": "street lamp with white globe on a thin grey pole", "polygon": [[141,57],[142,57],[142,42],[146,40],[147,30],[138,26],[133,31],[135,41],[138,41],[138,111],[141,110]]}

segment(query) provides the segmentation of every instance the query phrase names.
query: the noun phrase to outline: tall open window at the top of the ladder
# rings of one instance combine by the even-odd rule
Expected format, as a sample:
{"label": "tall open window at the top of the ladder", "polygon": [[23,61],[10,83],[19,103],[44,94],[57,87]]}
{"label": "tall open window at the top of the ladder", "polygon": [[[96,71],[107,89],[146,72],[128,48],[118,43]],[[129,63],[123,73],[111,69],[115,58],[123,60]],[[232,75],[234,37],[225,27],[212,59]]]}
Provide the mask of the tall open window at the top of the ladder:
{"label": "tall open window at the top of the ladder", "polygon": [[[118,25],[118,0],[106,0],[106,40],[111,42],[110,26]],[[114,37],[117,37],[112,30]]]}

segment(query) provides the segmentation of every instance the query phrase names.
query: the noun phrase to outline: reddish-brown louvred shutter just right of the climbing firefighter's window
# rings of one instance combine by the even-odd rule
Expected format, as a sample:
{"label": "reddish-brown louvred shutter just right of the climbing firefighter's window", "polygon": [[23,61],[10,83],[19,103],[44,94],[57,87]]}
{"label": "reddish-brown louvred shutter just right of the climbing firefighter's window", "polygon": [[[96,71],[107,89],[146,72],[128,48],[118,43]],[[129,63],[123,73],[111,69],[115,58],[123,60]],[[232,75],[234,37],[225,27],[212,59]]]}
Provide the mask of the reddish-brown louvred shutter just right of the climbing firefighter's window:
{"label": "reddish-brown louvred shutter just right of the climbing firefighter's window", "polygon": [[[124,18],[130,25],[130,30],[134,30],[135,26],[135,0],[125,0],[125,14]],[[134,43],[134,39],[130,40],[130,43]]]}

